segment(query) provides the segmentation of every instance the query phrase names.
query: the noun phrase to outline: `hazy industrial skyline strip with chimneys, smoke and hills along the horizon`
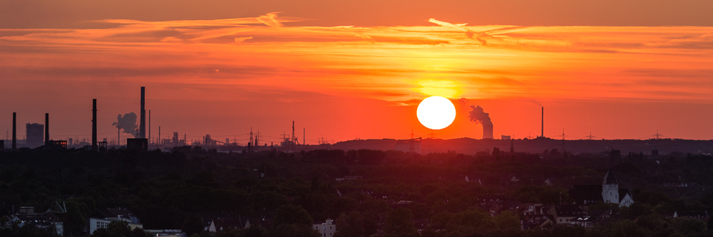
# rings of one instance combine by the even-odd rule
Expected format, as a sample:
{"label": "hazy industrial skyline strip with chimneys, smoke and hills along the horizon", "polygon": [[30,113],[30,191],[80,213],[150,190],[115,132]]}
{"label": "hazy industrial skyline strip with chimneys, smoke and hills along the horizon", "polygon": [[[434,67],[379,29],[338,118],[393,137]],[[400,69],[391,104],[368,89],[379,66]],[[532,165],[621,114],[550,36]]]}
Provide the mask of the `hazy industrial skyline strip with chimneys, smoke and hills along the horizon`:
{"label": "hazy industrial skyline strip with chimneys, smoke and hills along the horizon", "polygon": [[[0,140],[3,149],[85,149],[97,152],[106,152],[106,149],[125,148],[136,151],[148,151],[148,149],[164,149],[167,147],[178,146],[202,146],[206,148],[215,148],[233,152],[255,152],[260,150],[277,150],[277,151],[300,151],[313,149],[382,149],[382,150],[399,150],[403,152],[417,152],[419,154],[427,154],[430,152],[447,152],[451,149],[456,149],[466,154],[476,154],[483,150],[489,150],[492,147],[511,147],[517,149],[518,152],[540,152],[543,147],[556,147],[562,151],[572,153],[582,152],[599,152],[602,147],[617,147],[625,152],[643,152],[651,154],[652,152],[699,152],[709,150],[713,142],[707,140],[686,140],[686,139],[660,139],[657,131],[655,139],[592,139],[594,136],[588,136],[589,139],[566,140],[565,135],[561,135],[561,139],[553,139],[545,137],[545,117],[542,107],[541,134],[538,137],[525,137],[515,139],[509,135],[501,136],[501,139],[493,137],[493,121],[483,107],[471,105],[471,111],[468,112],[468,117],[471,122],[479,123],[483,126],[483,135],[481,139],[475,138],[458,138],[458,139],[436,139],[429,137],[426,139],[354,139],[349,141],[336,142],[330,144],[324,137],[320,139],[319,144],[306,144],[304,134],[306,128],[303,128],[303,141],[299,142],[295,136],[294,121],[292,122],[292,135],[283,135],[282,142],[279,144],[262,143],[260,144],[261,132],[253,132],[250,128],[250,138],[247,144],[238,144],[237,141],[230,142],[230,139],[220,141],[213,139],[211,135],[202,136],[200,140],[188,141],[187,135],[183,135],[183,139],[178,132],[173,132],[173,137],[163,139],[160,137],[160,126],[158,127],[158,137],[147,137],[150,135],[150,110],[148,113],[148,123],[146,119],[145,109],[145,87],[140,88],[140,117],[138,117],[138,125],[136,125],[137,116],[133,112],[128,112],[125,115],[118,115],[116,122],[113,125],[117,128],[117,139],[98,141],[97,137],[97,99],[93,99],[92,108],[92,135],[91,142],[74,140],[73,138],[50,139],[49,114],[45,115],[45,123],[28,123],[26,124],[26,137],[23,140],[17,139],[16,132],[16,112],[13,112],[13,125],[11,140]],[[102,122],[106,124],[106,122]],[[148,129],[147,129],[148,128]],[[42,132],[44,130],[44,132]],[[120,142],[121,133],[128,135],[125,142]],[[8,146],[4,144],[11,143]],[[123,144],[122,144],[123,143]],[[655,151],[654,151],[655,150]]]}

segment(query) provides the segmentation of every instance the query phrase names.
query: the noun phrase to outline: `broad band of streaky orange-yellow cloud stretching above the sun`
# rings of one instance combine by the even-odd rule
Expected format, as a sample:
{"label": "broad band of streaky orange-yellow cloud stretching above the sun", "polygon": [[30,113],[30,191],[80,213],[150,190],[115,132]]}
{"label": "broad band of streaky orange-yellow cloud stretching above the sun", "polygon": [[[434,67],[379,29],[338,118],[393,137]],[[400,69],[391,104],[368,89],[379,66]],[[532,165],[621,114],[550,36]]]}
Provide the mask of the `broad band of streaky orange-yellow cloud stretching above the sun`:
{"label": "broad band of streaky orange-yellow cloud stretching above the sun", "polygon": [[[436,19],[429,22],[437,26],[284,26],[304,19],[277,14],[0,29],[0,71],[17,80],[141,78],[394,102],[423,97],[419,82],[444,80],[456,98],[713,100],[713,88],[700,86],[713,63],[710,27],[468,26]],[[684,90],[702,93],[677,93]]]}

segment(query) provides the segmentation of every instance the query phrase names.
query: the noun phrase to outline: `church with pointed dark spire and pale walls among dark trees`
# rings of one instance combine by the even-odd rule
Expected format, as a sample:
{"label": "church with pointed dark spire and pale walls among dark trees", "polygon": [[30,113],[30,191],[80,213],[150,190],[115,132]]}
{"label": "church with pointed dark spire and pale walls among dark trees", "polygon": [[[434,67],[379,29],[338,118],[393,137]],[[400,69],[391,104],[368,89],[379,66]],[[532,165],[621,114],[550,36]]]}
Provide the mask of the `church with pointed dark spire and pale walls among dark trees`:
{"label": "church with pointed dark spire and pale walls among dark trees", "polygon": [[619,181],[612,169],[605,174],[602,185],[575,185],[568,192],[575,200],[575,204],[588,205],[597,201],[630,206],[634,204],[632,192],[629,189],[620,189]]}

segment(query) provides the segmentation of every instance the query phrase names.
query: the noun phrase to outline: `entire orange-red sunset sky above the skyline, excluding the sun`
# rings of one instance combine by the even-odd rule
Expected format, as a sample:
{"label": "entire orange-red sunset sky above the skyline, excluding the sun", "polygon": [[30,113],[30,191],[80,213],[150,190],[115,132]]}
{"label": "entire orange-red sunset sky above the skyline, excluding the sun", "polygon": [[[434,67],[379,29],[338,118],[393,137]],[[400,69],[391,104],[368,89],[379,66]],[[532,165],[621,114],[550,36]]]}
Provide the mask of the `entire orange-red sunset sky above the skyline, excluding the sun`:
{"label": "entire orange-red sunset sky above the skyline, excluding the sun", "polygon": [[[0,0],[0,129],[50,113],[52,139],[151,135],[268,144],[429,137],[416,106],[450,98],[443,139],[713,139],[713,1]],[[461,99],[463,98],[463,99]],[[2,131],[5,132],[5,131]],[[558,137],[558,135],[560,135]],[[3,135],[2,137],[5,137]],[[126,135],[122,135],[122,139]],[[241,140],[242,139],[242,140]]]}

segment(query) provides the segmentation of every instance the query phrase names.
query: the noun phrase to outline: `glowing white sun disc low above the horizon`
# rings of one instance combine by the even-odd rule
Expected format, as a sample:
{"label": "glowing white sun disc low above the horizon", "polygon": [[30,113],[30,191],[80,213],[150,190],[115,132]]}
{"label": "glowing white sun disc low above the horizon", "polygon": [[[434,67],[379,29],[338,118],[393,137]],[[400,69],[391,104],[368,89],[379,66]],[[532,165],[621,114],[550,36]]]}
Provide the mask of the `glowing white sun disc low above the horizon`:
{"label": "glowing white sun disc low above the horizon", "polygon": [[456,106],[451,100],[440,96],[431,96],[421,101],[416,109],[419,122],[432,130],[442,130],[456,120]]}

